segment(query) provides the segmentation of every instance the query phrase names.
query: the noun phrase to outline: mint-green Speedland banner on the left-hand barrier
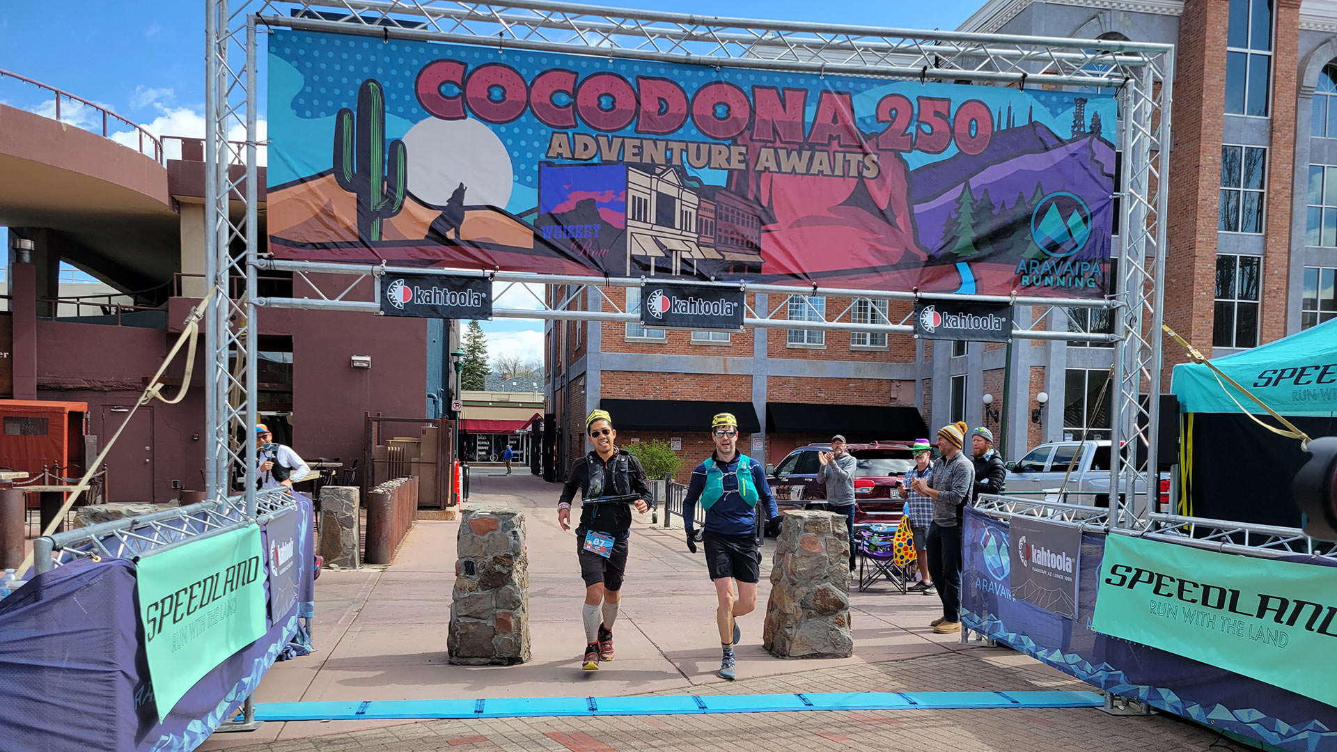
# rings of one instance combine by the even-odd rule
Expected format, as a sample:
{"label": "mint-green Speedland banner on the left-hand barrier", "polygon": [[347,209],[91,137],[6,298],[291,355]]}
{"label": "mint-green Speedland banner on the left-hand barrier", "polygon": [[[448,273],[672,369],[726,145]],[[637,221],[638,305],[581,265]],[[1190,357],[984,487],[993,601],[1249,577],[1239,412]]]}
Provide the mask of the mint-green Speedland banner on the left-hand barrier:
{"label": "mint-green Speedland banner on the left-hand barrier", "polygon": [[259,527],[146,557],[136,577],[148,676],[162,720],[201,677],[263,637]]}

